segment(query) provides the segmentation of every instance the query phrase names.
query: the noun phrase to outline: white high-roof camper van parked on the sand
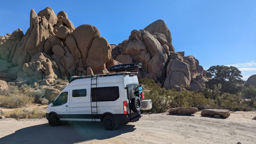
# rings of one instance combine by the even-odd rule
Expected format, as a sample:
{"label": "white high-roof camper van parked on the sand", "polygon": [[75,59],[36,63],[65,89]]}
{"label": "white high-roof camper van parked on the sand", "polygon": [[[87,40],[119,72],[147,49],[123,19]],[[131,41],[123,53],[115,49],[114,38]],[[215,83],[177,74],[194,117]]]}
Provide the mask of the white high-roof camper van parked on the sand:
{"label": "white high-roof camper van parked on the sand", "polygon": [[[118,66],[114,68],[124,64]],[[142,110],[152,108],[151,100],[143,99],[137,72],[75,76],[48,105],[46,118],[51,126],[63,121],[92,121],[114,130],[118,123],[138,121]]]}

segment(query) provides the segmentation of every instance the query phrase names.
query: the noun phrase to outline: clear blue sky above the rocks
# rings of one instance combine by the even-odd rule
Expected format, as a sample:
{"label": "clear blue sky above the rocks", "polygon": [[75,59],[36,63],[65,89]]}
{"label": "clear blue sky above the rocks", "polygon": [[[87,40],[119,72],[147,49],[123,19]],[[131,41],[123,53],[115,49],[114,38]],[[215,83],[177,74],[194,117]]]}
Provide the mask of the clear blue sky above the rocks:
{"label": "clear blue sky above the rocks", "polygon": [[194,55],[207,70],[213,65],[233,65],[244,80],[256,74],[256,1],[246,0],[141,0],[141,1],[3,1],[0,36],[29,27],[29,13],[52,7],[68,13],[75,27],[91,24],[110,44],[128,39],[133,29],[143,29],[162,19],[172,34],[175,51]]}

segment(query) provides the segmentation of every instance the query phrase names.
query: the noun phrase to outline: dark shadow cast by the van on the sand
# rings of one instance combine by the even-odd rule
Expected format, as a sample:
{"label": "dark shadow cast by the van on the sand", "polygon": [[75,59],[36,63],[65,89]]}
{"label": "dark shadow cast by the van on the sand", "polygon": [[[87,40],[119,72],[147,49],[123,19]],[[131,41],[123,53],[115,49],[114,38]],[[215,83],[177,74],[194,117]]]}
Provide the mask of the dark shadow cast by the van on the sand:
{"label": "dark shadow cast by the van on the sand", "polygon": [[104,140],[123,133],[133,132],[134,125],[119,124],[113,131],[104,129],[102,123],[71,122],[57,127],[49,124],[30,126],[0,138],[0,143],[78,143],[89,140]]}

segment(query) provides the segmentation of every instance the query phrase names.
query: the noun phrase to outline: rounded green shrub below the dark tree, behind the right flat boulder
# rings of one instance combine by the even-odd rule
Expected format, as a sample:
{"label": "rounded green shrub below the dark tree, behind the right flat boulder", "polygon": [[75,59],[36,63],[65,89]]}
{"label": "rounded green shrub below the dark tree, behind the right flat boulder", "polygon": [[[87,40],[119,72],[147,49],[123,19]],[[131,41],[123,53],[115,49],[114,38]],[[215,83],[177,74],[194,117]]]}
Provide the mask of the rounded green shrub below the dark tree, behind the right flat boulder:
{"label": "rounded green shrub below the dark tree, behind the right flat boulder", "polygon": [[215,99],[215,104],[220,109],[235,110],[242,107],[241,101],[242,99],[239,95],[224,93]]}

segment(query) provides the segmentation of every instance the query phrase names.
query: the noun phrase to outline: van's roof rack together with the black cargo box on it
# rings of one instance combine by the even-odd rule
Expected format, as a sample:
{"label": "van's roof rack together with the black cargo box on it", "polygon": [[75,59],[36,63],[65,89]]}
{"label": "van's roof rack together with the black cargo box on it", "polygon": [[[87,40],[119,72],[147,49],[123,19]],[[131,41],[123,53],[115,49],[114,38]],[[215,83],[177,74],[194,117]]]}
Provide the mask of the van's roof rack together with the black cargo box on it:
{"label": "van's roof rack together with the black cargo box on it", "polygon": [[141,68],[141,63],[126,63],[126,64],[114,65],[110,67],[108,70],[116,73],[99,74],[99,75],[91,75],[91,76],[72,76],[69,80],[69,83],[71,83],[76,79],[82,79],[82,78],[118,76],[118,75],[137,75],[138,72],[135,70],[139,68]]}

